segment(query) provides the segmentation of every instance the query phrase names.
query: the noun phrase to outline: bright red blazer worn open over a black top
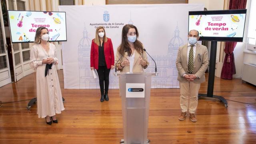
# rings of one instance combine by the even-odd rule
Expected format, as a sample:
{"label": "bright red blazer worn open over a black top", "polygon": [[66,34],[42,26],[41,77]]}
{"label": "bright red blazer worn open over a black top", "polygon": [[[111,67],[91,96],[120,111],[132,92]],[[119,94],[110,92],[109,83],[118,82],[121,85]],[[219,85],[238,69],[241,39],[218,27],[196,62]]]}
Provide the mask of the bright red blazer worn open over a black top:
{"label": "bright red blazer worn open over a black top", "polygon": [[[111,65],[114,66],[114,49],[112,45],[112,41],[108,38],[107,42],[104,42],[104,56],[106,61],[106,66],[108,69],[111,68]],[[99,68],[99,46],[92,40],[91,46],[91,67],[94,67],[96,70]]]}

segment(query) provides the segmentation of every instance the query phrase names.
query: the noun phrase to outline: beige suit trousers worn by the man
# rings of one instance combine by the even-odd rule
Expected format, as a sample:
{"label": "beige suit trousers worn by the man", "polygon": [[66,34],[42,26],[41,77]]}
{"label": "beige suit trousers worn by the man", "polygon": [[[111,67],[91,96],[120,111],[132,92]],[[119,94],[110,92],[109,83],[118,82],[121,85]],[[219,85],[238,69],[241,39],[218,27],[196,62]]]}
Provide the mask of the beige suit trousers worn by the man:
{"label": "beige suit trousers worn by the man", "polygon": [[198,104],[200,83],[180,82],[180,107],[182,112],[194,114]]}

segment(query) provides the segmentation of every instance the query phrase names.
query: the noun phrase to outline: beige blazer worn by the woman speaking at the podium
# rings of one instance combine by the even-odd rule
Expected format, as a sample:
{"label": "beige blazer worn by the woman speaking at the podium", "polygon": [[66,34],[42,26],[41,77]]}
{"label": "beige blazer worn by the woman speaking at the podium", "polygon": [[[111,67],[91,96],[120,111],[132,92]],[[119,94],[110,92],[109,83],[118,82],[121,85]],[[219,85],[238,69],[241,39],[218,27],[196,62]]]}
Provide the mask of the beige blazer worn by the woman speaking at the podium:
{"label": "beige blazer worn by the woman speaking at the podium", "polygon": [[[148,64],[149,64],[146,52],[143,51],[142,54],[141,54],[137,50],[134,50],[134,54],[135,55],[134,55],[134,64],[132,66],[133,67],[132,72],[144,72],[144,69],[147,68]],[[142,59],[144,61],[147,62],[147,65],[145,67],[143,67],[141,64],[139,64],[140,63],[140,56],[142,57]],[[119,70],[121,72],[130,72],[130,66],[124,66],[124,68],[118,69],[118,66],[120,65],[120,63],[128,58],[127,52],[125,52],[124,57],[119,60],[120,57],[121,57],[121,55],[117,51],[116,52],[116,57],[115,57],[115,66],[117,67],[117,70]],[[117,61],[118,61],[118,64],[116,64]]]}

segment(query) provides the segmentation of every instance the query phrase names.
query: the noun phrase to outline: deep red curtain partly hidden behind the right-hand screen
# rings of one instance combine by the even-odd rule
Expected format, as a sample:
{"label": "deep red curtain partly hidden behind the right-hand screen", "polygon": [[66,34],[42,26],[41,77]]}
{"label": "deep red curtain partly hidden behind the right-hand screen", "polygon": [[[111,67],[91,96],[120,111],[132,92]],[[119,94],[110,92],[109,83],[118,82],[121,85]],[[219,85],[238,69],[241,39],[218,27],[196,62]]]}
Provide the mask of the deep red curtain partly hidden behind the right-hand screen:
{"label": "deep red curtain partly hidden behind the right-hand screen", "polygon": [[[229,0],[229,10],[245,9],[247,0]],[[234,61],[234,48],[236,47],[236,42],[226,42],[224,52],[226,53],[222,70],[221,78],[232,80],[233,74],[236,74],[236,67]]]}

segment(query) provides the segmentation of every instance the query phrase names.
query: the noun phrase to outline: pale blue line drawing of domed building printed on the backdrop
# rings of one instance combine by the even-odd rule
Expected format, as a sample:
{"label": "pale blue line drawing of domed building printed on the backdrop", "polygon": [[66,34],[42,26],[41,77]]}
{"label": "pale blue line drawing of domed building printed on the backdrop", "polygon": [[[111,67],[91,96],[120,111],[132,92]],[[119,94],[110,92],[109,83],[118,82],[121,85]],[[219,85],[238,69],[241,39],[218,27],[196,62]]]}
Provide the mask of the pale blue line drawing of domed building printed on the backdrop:
{"label": "pale blue line drawing of domed building printed on the backdrop", "polygon": [[[131,21],[131,20],[130,20]],[[152,77],[151,88],[179,88],[177,80],[178,71],[176,69],[176,58],[178,48],[184,45],[182,38],[179,36],[178,23],[174,31],[174,37],[168,44],[167,55],[152,56],[156,61],[158,68],[158,76]],[[84,26],[83,38],[78,43],[78,63],[79,63],[79,88],[80,89],[98,89],[99,79],[93,78],[90,70],[90,50],[92,40],[88,38],[88,32]],[[146,68],[146,72],[154,72],[155,65],[151,58],[148,58],[150,65]],[[110,71],[109,88],[119,88],[119,78],[114,76],[114,70]]]}

